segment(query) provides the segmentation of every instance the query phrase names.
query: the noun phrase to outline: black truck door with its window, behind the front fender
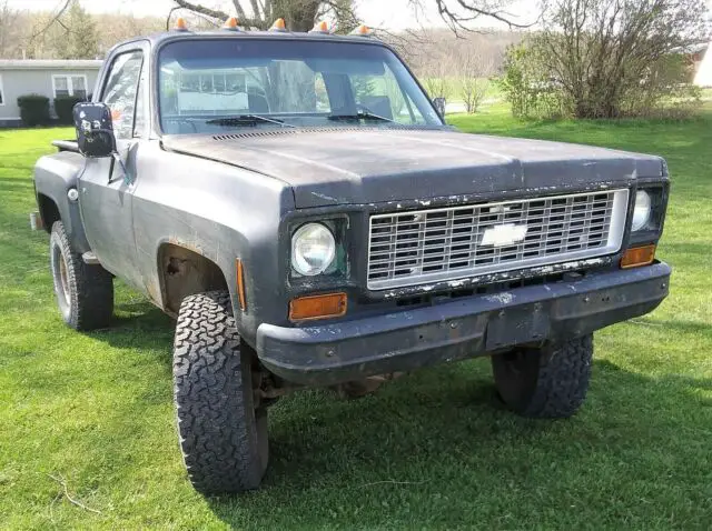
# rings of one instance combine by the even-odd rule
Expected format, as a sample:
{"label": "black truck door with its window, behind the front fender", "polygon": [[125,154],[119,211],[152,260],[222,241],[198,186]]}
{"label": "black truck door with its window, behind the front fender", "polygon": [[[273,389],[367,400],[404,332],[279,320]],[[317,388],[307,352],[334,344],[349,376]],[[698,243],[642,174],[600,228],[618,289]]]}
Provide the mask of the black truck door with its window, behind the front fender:
{"label": "black truck door with its window, behind the front fender", "polygon": [[98,83],[98,101],[111,110],[122,163],[113,158],[87,159],[79,181],[80,211],[93,253],[105,269],[135,287],[142,287],[137,268],[132,197],[139,179],[137,156],[147,123],[147,46],[130,43],[109,59],[109,68]]}

